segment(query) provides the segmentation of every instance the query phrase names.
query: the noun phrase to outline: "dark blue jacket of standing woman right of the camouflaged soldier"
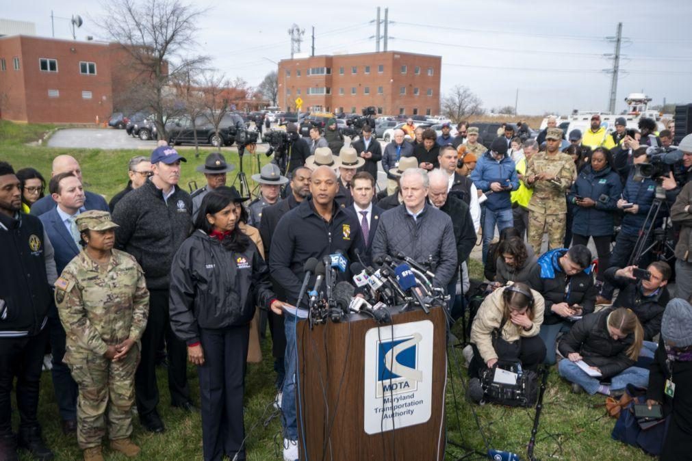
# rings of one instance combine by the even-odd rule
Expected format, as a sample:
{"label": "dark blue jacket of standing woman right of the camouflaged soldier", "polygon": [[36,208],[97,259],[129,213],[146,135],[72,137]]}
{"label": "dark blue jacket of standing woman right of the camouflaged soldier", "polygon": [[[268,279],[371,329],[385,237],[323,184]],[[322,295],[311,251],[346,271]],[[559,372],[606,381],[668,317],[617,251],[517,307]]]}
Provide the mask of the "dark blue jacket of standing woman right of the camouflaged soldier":
{"label": "dark blue jacket of standing woman right of the camouflaged soldier", "polygon": [[572,232],[585,236],[606,236],[613,234],[613,218],[617,211],[617,200],[622,194],[620,176],[610,167],[594,172],[591,165],[584,167],[570,194],[568,203],[576,203],[576,196],[588,197],[594,207],[575,206]]}

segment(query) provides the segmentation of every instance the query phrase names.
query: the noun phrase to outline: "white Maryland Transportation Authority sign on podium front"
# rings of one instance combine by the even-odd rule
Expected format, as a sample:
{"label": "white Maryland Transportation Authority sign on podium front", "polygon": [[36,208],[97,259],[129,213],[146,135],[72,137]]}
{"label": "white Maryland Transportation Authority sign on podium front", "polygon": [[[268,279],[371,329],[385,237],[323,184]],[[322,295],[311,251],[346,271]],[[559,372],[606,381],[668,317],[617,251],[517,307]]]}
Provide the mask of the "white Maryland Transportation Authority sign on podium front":
{"label": "white Maryland Transportation Authority sign on podium front", "polygon": [[365,333],[363,429],[376,434],[430,420],[432,335],[429,320]]}

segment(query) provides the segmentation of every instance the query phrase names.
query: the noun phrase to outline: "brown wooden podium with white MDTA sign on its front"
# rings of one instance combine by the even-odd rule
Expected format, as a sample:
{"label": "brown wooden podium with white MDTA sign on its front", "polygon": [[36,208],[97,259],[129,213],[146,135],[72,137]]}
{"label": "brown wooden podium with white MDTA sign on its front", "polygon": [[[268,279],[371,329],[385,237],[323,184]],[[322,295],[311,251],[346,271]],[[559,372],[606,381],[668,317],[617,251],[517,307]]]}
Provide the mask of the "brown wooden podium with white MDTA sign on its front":
{"label": "brown wooden podium with white MDTA sign on its front", "polygon": [[444,312],[387,309],[392,325],[379,325],[364,314],[312,329],[308,321],[298,323],[300,460],[444,459]]}

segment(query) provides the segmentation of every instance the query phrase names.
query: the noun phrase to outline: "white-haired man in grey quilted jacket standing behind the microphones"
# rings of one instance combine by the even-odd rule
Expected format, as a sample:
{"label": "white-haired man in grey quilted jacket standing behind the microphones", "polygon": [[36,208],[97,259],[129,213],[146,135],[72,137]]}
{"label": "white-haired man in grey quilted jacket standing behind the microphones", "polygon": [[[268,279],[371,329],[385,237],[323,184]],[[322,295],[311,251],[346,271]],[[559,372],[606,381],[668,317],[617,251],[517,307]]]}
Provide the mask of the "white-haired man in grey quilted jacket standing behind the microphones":
{"label": "white-haired man in grey quilted jacket standing behind the microphones", "polygon": [[457,246],[451,218],[430,205],[428,173],[407,169],[399,180],[403,203],[388,209],[372,241],[372,256],[406,254],[435,274],[432,283],[447,288],[457,269]]}

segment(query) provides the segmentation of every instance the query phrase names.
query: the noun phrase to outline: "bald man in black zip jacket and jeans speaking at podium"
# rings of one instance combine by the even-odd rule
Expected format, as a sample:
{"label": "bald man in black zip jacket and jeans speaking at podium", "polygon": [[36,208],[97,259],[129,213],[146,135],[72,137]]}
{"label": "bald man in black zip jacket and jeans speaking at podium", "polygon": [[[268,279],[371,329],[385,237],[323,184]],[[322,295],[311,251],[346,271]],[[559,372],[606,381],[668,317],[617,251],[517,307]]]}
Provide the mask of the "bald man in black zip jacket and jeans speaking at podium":
{"label": "bald man in black zip jacket and jeans speaking at podium", "polygon": [[[322,261],[329,254],[340,252],[351,261],[356,250],[364,254],[365,243],[358,218],[351,210],[336,205],[334,197],[339,189],[334,169],[327,166],[313,171],[310,180],[311,197],[291,209],[279,221],[271,242],[269,267],[271,276],[282,285],[285,300],[291,305],[306,308],[298,299],[304,279],[304,265],[309,258]],[[449,224],[451,232],[451,223]],[[451,241],[453,245],[453,240]],[[454,248],[454,246],[452,246]],[[453,250],[454,251],[454,250]],[[348,270],[340,274],[346,280]],[[451,273],[450,273],[451,276]],[[315,283],[312,276],[308,286]],[[281,312],[275,312],[281,314]],[[295,411],[295,321],[296,317],[284,313],[286,331],[286,377],[282,396],[282,424],[284,426],[284,460],[298,459],[298,424]]]}

